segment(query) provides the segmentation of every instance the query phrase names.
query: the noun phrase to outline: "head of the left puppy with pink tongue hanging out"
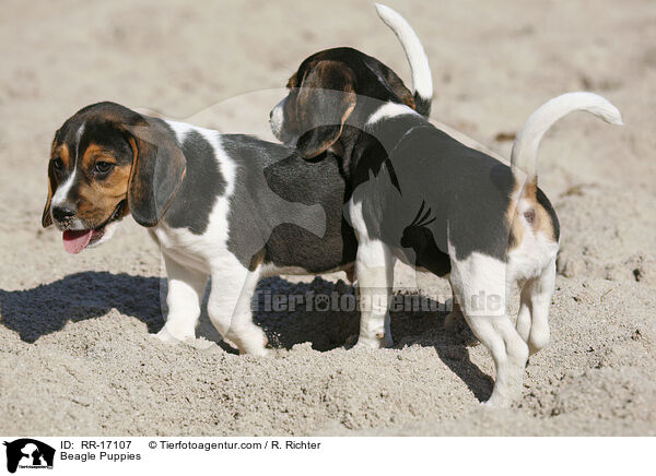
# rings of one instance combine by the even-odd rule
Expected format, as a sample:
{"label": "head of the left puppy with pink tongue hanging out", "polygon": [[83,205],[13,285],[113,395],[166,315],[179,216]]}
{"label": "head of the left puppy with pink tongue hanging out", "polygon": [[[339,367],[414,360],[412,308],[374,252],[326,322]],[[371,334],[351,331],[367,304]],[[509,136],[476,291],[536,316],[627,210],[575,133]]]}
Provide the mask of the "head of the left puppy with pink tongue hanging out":
{"label": "head of the left puppy with pink tongue hanging out", "polygon": [[114,103],[87,106],[55,133],[42,224],[62,230],[71,253],[109,239],[128,213],[156,226],[185,169],[161,121]]}

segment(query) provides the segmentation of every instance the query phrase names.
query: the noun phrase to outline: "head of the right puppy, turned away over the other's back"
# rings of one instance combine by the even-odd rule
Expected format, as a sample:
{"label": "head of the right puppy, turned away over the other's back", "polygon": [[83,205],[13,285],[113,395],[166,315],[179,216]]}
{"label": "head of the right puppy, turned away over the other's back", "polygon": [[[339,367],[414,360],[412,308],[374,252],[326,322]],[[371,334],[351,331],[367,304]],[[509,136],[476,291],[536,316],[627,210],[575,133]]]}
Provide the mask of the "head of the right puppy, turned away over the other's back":
{"label": "head of the right puppy, turned away over the other's back", "polygon": [[335,144],[365,98],[405,104],[412,93],[385,64],[352,48],[333,48],[307,58],[292,75],[288,96],[270,114],[273,134],[312,158]]}

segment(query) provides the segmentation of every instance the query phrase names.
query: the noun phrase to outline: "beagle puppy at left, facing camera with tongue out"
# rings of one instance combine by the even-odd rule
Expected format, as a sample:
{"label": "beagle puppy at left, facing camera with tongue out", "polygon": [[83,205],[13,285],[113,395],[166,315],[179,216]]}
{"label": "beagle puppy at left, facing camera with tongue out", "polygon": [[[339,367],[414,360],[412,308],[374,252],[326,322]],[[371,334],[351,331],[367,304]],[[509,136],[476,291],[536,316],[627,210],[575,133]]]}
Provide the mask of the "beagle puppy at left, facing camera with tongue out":
{"label": "beagle puppy at left, facing camera with tongue out", "polygon": [[[413,32],[403,34],[418,41]],[[430,88],[413,96],[389,68],[353,49],[323,55],[353,68],[365,63],[375,97],[410,108],[417,97],[427,114]],[[421,45],[412,55],[414,81],[430,84]],[[298,97],[300,109],[316,107],[311,100]],[[288,145],[95,104],[55,134],[43,226],[55,224],[66,250],[79,253],[109,239],[131,214],[165,261],[168,316],[159,337],[195,336],[211,276],[212,323],[241,352],[261,355],[267,340],[250,309],[260,277],[353,267],[356,241],[342,213],[350,189],[337,155],[320,156],[308,164]]]}

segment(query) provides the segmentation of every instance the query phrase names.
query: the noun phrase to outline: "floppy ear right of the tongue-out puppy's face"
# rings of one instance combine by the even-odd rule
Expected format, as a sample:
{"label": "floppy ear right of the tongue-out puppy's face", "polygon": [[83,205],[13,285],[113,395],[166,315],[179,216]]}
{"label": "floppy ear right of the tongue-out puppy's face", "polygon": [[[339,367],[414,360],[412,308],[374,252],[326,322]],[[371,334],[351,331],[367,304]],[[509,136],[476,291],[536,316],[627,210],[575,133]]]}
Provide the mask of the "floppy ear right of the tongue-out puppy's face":
{"label": "floppy ear right of the tongue-out puppy's face", "polygon": [[156,226],[183,185],[187,160],[173,132],[156,120],[129,126],[132,170],[128,186],[128,206],[142,226]]}

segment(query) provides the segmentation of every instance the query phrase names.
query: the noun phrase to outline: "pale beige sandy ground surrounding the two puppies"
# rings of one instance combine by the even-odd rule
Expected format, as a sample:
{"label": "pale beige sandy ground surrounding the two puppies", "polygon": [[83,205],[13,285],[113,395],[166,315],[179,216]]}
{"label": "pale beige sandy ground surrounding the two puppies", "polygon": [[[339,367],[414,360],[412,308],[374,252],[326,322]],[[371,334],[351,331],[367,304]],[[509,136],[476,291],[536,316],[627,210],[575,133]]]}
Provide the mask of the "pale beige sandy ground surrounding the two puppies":
{"label": "pale beige sandy ground surrounding the two puppies", "polygon": [[[480,406],[491,358],[446,333],[444,312],[395,313],[393,349],[345,350],[353,312],[302,310],[257,312],[271,358],[216,345],[204,316],[202,337],[172,348],[149,336],[165,282],[143,229],[127,221],[70,257],[40,228],[54,131],[86,104],[266,135],[282,93],[261,90],[314,51],[353,46],[409,81],[370,2],[184,3],[0,7],[0,435],[656,433],[653,1],[390,2],[427,51],[433,117],[503,156],[503,135],[563,92],[598,92],[624,116],[573,115],[543,142],[540,185],[562,223],[552,341],[509,410]],[[260,290],[352,293],[339,277]],[[398,288],[414,284],[446,295],[398,270]]]}

